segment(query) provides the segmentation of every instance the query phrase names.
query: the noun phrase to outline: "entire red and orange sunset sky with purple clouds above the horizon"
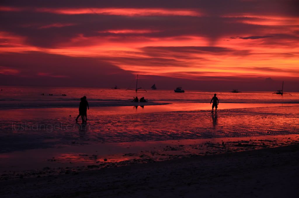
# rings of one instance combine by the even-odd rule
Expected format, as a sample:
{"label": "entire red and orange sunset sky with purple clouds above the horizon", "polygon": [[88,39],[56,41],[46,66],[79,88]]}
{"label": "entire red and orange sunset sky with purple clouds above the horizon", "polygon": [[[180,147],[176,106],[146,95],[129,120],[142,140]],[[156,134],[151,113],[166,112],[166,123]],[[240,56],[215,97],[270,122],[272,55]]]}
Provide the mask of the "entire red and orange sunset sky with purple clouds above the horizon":
{"label": "entire red and orange sunset sky with purple clouds above the horizon", "polygon": [[0,84],[299,91],[299,1],[0,1]]}

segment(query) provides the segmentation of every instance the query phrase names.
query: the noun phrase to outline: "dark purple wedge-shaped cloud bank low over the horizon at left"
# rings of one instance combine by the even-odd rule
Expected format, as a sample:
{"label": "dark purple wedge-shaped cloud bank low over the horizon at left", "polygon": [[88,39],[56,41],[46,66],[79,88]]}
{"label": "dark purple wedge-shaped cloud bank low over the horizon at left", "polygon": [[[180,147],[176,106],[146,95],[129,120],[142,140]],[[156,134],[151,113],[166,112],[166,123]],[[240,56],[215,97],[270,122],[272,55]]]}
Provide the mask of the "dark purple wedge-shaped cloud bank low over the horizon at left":
{"label": "dark purple wedge-shaped cloud bank low over the horizon at left", "polygon": [[18,76],[1,75],[1,84],[111,86],[134,78],[130,72],[97,58],[29,52],[0,54],[0,59],[1,66],[19,71]]}

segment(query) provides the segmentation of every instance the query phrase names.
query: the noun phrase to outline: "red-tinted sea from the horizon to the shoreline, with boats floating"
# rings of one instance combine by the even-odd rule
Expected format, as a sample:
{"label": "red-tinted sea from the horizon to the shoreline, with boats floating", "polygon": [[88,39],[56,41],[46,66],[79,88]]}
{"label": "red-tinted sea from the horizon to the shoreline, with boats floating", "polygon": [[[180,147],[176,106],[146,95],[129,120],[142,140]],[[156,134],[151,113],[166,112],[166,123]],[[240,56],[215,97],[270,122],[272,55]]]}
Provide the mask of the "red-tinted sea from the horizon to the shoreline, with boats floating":
{"label": "red-tinted sea from the horizon to the shoreline, with boats floating", "polygon": [[[147,100],[159,101],[209,101],[216,93],[220,101],[253,101],[253,102],[279,102],[297,103],[298,92],[289,92],[292,95],[277,95],[273,92],[241,92],[231,91],[197,91],[185,90],[185,93],[175,93],[173,90],[147,90],[135,92],[126,89],[103,88],[48,88],[48,87],[1,87],[0,101],[78,101],[82,96],[88,100],[131,100],[133,96],[145,97]],[[44,95],[41,95],[44,93]],[[53,96],[49,96],[53,94]],[[62,96],[66,94],[66,96]]]}

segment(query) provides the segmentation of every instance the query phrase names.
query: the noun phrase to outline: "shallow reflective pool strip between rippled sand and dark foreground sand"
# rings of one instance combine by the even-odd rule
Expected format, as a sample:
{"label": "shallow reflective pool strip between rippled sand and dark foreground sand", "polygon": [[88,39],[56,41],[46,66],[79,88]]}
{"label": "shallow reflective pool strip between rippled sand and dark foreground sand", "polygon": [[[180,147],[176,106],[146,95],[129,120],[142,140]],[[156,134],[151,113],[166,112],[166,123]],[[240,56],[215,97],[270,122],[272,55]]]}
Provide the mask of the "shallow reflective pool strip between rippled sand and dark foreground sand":
{"label": "shallow reflective pool strip between rippled sand and dark foreground sand", "polygon": [[[0,154],[0,173],[42,169],[44,167],[76,167],[120,163],[129,165],[134,159],[168,160],[188,155],[237,152],[277,147],[298,142],[299,135],[276,135],[242,138],[208,138],[122,143],[60,145]],[[223,143],[222,143],[223,142]],[[107,161],[105,161],[107,159]],[[128,163],[128,164],[126,164]],[[144,163],[144,162],[143,162]]]}

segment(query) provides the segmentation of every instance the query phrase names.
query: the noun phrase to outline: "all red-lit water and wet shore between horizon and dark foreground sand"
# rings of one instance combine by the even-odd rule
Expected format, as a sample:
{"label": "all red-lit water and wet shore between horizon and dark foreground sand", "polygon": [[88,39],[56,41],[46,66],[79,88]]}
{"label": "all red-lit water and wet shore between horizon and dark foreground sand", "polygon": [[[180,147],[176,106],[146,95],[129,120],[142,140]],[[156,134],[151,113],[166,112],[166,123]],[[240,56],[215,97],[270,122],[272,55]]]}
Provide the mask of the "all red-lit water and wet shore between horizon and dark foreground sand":
{"label": "all red-lit water and wet shore between horizon and dark foreground sand", "polygon": [[[46,92],[53,96],[40,95]],[[82,95],[90,103],[86,124],[74,121]],[[114,89],[4,87],[0,170],[50,166],[51,173],[60,173],[67,166],[87,170],[298,142],[298,93],[219,92],[217,114],[210,112],[213,92],[150,90],[142,95],[153,101],[144,104],[131,103],[133,95]]]}

